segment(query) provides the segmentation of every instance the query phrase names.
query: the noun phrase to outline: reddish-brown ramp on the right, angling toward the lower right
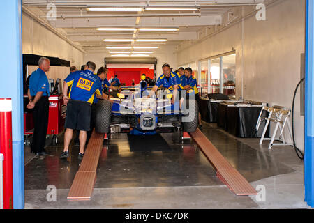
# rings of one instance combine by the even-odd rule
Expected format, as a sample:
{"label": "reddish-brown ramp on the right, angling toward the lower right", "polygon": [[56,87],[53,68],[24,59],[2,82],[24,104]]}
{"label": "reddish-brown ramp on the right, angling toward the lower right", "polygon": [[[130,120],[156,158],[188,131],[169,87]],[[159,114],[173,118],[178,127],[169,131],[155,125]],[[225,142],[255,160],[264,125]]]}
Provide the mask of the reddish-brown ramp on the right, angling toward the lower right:
{"label": "reddish-brown ramp on the right, angling toward the lower right", "polygon": [[204,155],[216,169],[217,177],[237,194],[237,196],[257,195],[256,190],[250,183],[225,160],[211,141],[197,128],[195,132],[190,132],[190,136],[200,147]]}

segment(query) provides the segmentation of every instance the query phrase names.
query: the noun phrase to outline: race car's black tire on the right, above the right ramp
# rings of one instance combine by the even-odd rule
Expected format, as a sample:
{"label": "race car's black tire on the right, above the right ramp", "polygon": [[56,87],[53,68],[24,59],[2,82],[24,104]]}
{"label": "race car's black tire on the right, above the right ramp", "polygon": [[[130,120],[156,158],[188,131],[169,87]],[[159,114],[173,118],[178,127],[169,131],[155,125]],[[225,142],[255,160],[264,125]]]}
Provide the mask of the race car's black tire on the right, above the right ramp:
{"label": "race car's black tire on the right, above the right ramp", "polygon": [[188,122],[182,122],[184,132],[195,132],[198,127],[198,104],[195,100],[187,100],[187,102],[182,105],[182,112],[185,117],[188,117],[190,106],[194,107],[194,109],[190,111],[194,113],[194,117]]}

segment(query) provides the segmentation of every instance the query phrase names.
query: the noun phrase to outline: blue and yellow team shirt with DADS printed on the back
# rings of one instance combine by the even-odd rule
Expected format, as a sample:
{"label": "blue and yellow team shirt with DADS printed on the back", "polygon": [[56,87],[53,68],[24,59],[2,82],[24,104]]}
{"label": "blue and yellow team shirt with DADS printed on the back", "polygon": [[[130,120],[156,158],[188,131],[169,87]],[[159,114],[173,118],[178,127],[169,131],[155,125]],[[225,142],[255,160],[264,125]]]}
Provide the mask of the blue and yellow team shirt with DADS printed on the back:
{"label": "blue and yellow team shirt with DADS printed on the back", "polygon": [[69,98],[73,100],[80,100],[83,102],[94,101],[95,93],[102,95],[102,84],[99,77],[93,74],[91,70],[80,70],[70,73],[64,81],[71,86]]}

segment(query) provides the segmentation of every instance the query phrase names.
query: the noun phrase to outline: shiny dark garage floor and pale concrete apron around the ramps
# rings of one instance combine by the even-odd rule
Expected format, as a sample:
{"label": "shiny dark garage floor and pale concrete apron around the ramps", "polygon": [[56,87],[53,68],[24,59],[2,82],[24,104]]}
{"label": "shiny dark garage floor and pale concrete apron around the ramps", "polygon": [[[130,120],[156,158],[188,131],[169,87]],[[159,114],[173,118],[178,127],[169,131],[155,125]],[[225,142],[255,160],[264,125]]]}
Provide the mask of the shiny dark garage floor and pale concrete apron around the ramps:
{"label": "shiny dark garage floor and pale concrete apron around the ramps", "polygon": [[[182,142],[177,133],[145,141],[142,149],[129,143],[127,134],[112,134],[100,155],[91,201],[66,199],[80,167],[78,146],[70,147],[68,160],[59,160],[63,139],[47,147],[51,154],[46,157],[33,157],[27,146],[25,208],[309,208],[303,201],[303,162],[292,147],[269,151],[267,142],[260,146],[259,139],[237,139],[216,124],[203,123],[203,128],[253,187],[264,185],[266,201],[235,196],[196,144]],[[48,185],[57,188],[56,201],[47,201]]]}

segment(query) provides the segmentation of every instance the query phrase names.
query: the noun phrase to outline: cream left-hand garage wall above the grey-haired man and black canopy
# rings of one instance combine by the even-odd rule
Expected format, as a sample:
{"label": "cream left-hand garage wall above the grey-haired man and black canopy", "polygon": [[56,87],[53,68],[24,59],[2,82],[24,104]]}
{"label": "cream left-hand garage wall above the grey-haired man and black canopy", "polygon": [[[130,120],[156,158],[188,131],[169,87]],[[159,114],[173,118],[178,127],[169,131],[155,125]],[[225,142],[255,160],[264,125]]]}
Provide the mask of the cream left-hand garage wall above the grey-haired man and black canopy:
{"label": "cream left-hand garage wall above the grey-haired man and black canopy", "polygon": [[22,45],[23,54],[59,57],[70,61],[71,66],[77,66],[78,69],[83,64],[82,52],[24,13],[22,13]]}

